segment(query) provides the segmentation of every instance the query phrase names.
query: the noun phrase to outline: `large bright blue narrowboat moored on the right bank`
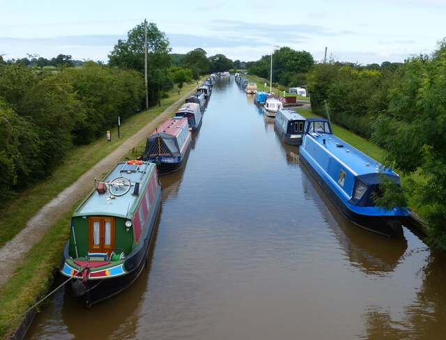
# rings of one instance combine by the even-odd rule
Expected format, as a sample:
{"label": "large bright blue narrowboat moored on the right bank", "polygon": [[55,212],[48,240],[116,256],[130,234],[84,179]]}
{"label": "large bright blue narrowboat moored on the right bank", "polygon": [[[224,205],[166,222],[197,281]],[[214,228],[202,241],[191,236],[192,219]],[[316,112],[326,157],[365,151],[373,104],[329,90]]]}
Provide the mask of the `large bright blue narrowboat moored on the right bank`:
{"label": "large bright blue narrowboat moored on the right bank", "polygon": [[383,179],[399,185],[399,176],[334,136],[329,121],[307,118],[299,159],[353,224],[389,237],[401,233],[408,208],[385,210],[372,196],[380,194]]}

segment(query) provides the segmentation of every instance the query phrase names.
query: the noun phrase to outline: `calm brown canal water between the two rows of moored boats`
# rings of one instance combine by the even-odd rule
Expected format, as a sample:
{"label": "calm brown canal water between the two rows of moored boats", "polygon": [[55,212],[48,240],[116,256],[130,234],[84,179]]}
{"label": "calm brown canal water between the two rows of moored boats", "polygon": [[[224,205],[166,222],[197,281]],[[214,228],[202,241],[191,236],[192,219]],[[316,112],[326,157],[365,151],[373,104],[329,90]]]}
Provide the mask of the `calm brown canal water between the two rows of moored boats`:
{"label": "calm brown canal water between the two rows of moored boats", "polygon": [[445,338],[445,255],[347,222],[233,77],[161,182],[137,282],[91,309],[61,289],[26,339]]}

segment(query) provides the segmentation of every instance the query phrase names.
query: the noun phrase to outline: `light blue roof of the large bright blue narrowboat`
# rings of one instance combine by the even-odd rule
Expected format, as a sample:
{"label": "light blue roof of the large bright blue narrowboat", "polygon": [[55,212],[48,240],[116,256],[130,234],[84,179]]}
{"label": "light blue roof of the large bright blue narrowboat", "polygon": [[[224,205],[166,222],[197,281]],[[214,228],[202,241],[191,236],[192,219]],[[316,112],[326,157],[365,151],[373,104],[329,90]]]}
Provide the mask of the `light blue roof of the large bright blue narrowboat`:
{"label": "light blue roof of the large bright blue narrowboat", "polygon": [[[321,121],[320,118],[307,118],[308,121]],[[326,120],[323,120],[326,121]],[[355,176],[364,175],[367,173],[384,172],[390,176],[398,176],[392,169],[385,168],[383,164],[371,158],[369,155],[362,153],[357,148],[351,146],[346,141],[330,133],[309,132],[316,142],[320,144],[332,156],[336,157],[339,162],[350,169]],[[325,139],[325,144],[323,140]]]}

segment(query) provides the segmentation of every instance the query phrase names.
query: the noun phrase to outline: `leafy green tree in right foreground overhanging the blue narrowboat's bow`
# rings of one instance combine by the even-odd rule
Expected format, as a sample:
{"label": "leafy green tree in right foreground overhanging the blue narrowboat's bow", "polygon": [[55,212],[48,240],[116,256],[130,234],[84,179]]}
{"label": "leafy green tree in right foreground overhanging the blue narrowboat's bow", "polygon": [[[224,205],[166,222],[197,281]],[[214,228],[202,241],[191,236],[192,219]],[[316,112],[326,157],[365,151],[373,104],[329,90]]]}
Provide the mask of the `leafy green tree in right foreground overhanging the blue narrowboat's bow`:
{"label": "leafy green tree in right foreground overhanging the blue narrowboat's bow", "polygon": [[385,145],[387,162],[406,175],[421,175],[413,196],[429,206],[426,221],[433,245],[446,249],[446,51],[406,61],[401,82],[388,95],[389,109],[374,124],[374,140]]}

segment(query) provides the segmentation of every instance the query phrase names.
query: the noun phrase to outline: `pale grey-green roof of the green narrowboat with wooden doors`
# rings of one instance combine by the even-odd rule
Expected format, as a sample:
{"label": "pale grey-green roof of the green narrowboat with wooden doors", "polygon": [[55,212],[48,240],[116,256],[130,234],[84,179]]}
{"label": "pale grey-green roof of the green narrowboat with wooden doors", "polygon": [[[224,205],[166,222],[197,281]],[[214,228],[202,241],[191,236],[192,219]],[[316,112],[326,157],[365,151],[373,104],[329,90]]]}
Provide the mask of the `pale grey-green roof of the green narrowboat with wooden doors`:
{"label": "pale grey-green roof of the green narrowboat with wooden doors", "polygon": [[127,162],[119,162],[114,166],[112,171],[107,173],[102,183],[112,182],[115,178],[124,177],[130,180],[130,190],[122,196],[114,196],[110,198],[111,193],[107,191],[105,194],[99,194],[97,190],[93,190],[89,196],[76,208],[75,216],[91,216],[106,215],[131,218],[136,211],[137,203],[140,196],[134,196],[134,184],[139,183],[139,192],[144,192],[148,181],[151,178],[156,165],[150,162],[142,164],[127,164]]}

